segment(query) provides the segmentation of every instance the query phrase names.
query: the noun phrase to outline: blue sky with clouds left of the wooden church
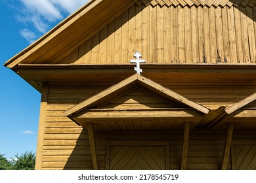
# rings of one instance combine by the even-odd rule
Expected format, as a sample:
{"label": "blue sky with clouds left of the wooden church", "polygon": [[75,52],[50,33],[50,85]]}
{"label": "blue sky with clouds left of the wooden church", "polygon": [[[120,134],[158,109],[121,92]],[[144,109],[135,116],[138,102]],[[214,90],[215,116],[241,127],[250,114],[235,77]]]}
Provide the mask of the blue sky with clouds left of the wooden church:
{"label": "blue sky with clouds left of the wooden church", "polygon": [[87,0],[0,0],[0,154],[36,151],[41,93],[3,67]]}

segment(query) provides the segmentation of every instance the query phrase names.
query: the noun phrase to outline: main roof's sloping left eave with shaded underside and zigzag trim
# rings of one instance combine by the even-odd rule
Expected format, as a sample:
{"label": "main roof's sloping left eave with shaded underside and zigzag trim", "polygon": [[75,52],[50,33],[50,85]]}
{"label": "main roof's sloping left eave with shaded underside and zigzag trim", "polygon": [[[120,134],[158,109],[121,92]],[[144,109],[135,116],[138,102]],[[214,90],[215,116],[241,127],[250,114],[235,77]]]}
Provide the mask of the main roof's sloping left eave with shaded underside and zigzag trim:
{"label": "main roof's sloping left eave with shaded underside and zigzag trim", "polygon": [[[71,52],[87,41],[100,29],[112,22],[122,12],[133,5],[151,6],[249,6],[255,5],[255,0],[92,0],[56,25],[49,33],[28,46],[5,63],[6,67],[14,68],[19,63],[51,63]],[[53,49],[54,48],[54,49]]]}

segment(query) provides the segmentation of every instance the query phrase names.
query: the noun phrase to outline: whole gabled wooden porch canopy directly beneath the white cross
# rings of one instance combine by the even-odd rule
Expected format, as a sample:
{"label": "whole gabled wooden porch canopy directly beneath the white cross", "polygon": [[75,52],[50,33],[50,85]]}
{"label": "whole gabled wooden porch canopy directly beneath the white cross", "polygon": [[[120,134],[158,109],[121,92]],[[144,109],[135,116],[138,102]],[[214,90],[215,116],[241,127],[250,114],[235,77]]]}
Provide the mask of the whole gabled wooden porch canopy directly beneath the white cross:
{"label": "whole gabled wooden porch canopy directly beneath the white cross", "polygon": [[75,105],[65,116],[95,131],[193,129],[209,110],[135,74]]}

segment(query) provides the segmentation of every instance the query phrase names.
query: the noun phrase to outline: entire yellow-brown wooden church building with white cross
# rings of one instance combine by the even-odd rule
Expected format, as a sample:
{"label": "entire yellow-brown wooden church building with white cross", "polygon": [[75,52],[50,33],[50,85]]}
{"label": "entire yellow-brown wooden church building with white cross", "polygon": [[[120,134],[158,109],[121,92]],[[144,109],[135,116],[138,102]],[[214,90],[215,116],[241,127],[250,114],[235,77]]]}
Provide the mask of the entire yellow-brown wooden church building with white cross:
{"label": "entire yellow-brown wooden church building with white cross", "polygon": [[256,0],[93,0],[5,63],[41,92],[35,169],[256,169]]}

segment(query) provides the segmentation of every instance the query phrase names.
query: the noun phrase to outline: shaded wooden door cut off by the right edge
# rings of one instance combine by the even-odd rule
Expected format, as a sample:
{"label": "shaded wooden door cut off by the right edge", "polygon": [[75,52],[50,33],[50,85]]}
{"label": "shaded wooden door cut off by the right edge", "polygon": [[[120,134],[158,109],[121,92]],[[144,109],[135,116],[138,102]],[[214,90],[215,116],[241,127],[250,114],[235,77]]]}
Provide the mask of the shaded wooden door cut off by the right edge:
{"label": "shaded wooden door cut off by the right edge", "polygon": [[232,169],[256,170],[256,144],[232,146]]}

